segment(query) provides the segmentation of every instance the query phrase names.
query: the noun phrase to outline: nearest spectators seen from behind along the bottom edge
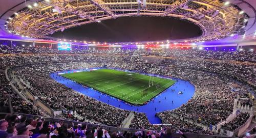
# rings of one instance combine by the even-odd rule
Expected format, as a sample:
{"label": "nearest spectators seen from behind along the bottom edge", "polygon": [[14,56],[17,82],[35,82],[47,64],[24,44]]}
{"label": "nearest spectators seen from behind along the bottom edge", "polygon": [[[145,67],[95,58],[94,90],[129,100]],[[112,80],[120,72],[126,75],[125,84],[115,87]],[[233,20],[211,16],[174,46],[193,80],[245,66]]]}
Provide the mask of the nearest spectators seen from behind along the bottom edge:
{"label": "nearest spectators seen from behind along the bottom edge", "polygon": [[[20,116],[7,114],[0,118],[0,136],[3,138],[74,138],[74,137],[99,137],[99,138],[168,138],[172,137],[172,129],[162,128],[161,131],[146,131],[142,127],[134,133],[130,131],[113,131],[104,126],[65,123],[62,120],[49,121],[47,118]],[[178,131],[184,138],[187,136]],[[176,134],[177,135],[177,134]]]}

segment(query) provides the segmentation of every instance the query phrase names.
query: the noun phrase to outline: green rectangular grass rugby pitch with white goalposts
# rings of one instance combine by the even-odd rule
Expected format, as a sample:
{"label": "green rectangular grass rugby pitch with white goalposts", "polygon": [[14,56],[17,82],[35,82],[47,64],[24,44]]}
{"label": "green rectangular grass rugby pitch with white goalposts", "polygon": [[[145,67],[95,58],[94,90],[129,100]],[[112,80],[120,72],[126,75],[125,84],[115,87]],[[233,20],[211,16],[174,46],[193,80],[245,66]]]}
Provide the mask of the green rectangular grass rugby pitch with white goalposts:
{"label": "green rectangular grass rugby pitch with white goalposts", "polygon": [[[143,104],[152,99],[175,81],[130,73],[112,69],[99,69],[90,72],[75,72],[61,76],[79,82],[82,85],[119,98],[132,104]],[[150,84],[151,79],[151,84]],[[152,80],[154,80],[152,82]]]}

